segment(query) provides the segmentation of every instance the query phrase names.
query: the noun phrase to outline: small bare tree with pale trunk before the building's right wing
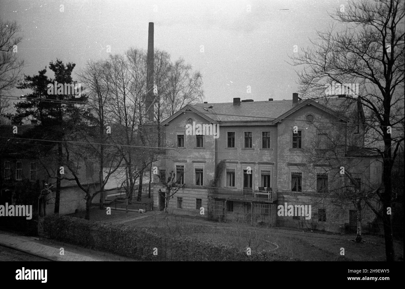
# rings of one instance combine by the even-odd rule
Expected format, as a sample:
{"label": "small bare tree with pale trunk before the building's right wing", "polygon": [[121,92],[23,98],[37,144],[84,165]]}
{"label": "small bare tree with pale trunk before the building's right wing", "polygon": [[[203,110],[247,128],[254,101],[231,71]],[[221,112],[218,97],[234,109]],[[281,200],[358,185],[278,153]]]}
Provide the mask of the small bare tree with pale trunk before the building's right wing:
{"label": "small bare tree with pale trunk before the building's right wing", "polygon": [[[307,173],[316,180],[309,184],[315,191],[312,203],[328,207],[336,219],[352,206],[357,218],[355,241],[361,242],[363,215],[370,211],[366,201],[377,203],[376,191],[381,186],[377,172],[381,172],[381,159],[368,158],[370,152],[361,146],[364,135],[352,133],[356,124],[349,121],[357,121],[357,100],[338,100],[339,116],[344,119],[340,123],[329,123],[322,116],[315,118],[307,129],[316,137],[303,149],[303,154],[307,163],[316,164],[316,167],[307,166]],[[356,109],[352,111],[353,104]],[[345,118],[345,115],[352,117]],[[371,171],[376,174],[371,176]]]}

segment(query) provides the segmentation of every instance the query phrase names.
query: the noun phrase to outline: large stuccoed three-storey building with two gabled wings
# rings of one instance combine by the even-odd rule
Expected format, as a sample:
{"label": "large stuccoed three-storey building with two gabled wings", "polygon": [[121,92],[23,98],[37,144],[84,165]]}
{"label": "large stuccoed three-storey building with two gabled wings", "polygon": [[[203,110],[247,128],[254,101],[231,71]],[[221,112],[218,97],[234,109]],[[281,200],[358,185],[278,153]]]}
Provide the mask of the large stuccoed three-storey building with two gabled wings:
{"label": "large stuccoed three-storey building with two gabled wings", "polygon": [[[224,221],[356,227],[359,210],[350,194],[381,183],[380,163],[362,149],[363,123],[357,98],[342,96],[186,105],[162,122],[168,149],[155,164],[154,206],[164,209],[159,180],[173,171],[185,184],[168,203],[177,214],[204,208],[204,216]],[[371,228],[375,215],[362,208],[361,217],[362,227]]]}

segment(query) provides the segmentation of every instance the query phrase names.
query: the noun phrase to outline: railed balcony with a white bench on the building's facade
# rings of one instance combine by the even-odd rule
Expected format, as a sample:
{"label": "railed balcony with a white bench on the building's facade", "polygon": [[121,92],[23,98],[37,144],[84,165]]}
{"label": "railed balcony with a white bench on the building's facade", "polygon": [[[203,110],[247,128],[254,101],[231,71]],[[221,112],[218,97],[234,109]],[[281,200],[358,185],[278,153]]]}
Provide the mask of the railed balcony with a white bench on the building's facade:
{"label": "railed balcony with a white bench on the building's facade", "polygon": [[256,201],[273,203],[277,201],[277,193],[271,188],[259,187],[253,189],[233,189],[233,188],[209,188],[208,197],[218,199],[228,199],[234,201]]}

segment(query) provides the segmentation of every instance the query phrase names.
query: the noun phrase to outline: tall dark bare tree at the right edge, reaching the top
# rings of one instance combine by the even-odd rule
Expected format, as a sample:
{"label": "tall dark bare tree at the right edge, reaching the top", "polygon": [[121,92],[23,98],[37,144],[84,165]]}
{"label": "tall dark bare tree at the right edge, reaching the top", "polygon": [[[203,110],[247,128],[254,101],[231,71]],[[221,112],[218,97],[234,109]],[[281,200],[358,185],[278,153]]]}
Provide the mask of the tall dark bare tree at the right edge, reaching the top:
{"label": "tall dark bare tree at the right edge, reaching the top", "polygon": [[[301,93],[311,97],[325,87],[342,87],[350,98],[354,83],[365,113],[365,126],[374,134],[364,148],[375,153],[383,162],[383,186],[376,194],[382,211],[367,202],[384,224],[387,261],[393,261],[394,246],[390,215],[392,201],[392,167],[403,143],[404,90],[404,2],[401,0],[351,1],[339,7],[334,21],[344,25],[342,31],[332,27],[318,32],[319,41],[310,49],[302,49],[293,57],[294,65],[303,65],[299,73]],[[331,84],[332,83],[332,84]],[[357,90],[357,87],[356,89]],[[328,92],[326,92],[328,94]],[[318,94],[319,95],[319,94]]]}

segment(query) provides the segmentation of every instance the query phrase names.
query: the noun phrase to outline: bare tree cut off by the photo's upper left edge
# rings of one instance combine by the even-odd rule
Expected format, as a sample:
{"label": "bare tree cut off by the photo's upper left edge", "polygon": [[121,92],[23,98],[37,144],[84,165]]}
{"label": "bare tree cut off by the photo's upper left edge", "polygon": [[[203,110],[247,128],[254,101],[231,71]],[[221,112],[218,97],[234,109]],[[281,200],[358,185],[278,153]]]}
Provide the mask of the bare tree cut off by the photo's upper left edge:
{"label": "bare tree cut off by the photo's upper left edge", "polygon": [[9,118],[6,111],[10,101],[4,98],[4,94],[18,83],[24,66],[24,61],[17,56],[18,44],[22,40],[19,32],[21,29],[15,21],[0,23],[0,121],[2,117]]}

